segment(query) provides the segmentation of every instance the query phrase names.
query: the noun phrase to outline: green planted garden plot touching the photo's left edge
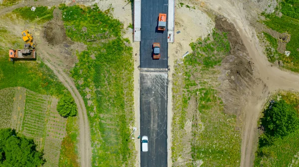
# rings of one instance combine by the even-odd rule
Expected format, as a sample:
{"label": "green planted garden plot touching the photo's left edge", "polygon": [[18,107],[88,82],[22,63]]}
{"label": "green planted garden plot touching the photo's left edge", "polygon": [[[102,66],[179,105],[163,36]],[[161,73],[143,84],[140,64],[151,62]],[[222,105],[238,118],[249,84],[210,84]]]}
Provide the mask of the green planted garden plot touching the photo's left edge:
{"label": "green planted garden plot touching the photo's left edge", "polygon": [[9,128],[13,108],[15,88],[0,90],[0,128]]}

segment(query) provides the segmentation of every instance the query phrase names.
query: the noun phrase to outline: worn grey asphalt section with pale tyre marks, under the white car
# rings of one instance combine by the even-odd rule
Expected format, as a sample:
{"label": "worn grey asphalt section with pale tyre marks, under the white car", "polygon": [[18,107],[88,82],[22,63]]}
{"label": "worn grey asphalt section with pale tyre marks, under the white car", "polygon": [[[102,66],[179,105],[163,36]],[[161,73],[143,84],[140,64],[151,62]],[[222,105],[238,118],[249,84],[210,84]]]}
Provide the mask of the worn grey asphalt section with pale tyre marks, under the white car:
{"label": "worn grey asphalt section with pale tyre marks, under the white car", "polygon": [[167,72],[140,73],[141,137],[149,137],[141,167],[167,167],[167,80]]}

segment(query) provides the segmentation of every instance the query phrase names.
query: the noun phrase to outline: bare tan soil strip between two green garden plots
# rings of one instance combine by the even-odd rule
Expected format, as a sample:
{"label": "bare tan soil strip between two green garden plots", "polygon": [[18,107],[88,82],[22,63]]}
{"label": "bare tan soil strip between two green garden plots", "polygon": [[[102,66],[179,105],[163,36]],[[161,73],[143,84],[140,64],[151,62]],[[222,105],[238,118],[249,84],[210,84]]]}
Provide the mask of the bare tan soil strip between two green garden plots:
{"label": "bare tan soil strip between two green garden plots", "polygon": [[23,115],[25,110],[26,89],[22,87],[15,88],[12,116],[10,120],[10,127],[17,132],[21,131]]}

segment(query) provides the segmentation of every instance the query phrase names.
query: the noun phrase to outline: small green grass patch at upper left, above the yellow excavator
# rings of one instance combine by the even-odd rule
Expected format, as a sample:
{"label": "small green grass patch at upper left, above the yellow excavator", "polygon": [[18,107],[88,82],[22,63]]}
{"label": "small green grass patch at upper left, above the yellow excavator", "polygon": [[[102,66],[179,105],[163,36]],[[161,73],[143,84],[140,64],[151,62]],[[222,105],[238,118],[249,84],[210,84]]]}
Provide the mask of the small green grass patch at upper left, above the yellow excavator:
{"label": "small green grass patch at upper left, above the yellow excavator", "polygon": [[40,23],[48,21],[53,18],[53,10],[55,6],[48,9],[47,6],[38,6],[35,11],[31,10],[31,7],[21,7],[12,10],[12,12],[19,14],[23,19],[33,21],[39,19]]}

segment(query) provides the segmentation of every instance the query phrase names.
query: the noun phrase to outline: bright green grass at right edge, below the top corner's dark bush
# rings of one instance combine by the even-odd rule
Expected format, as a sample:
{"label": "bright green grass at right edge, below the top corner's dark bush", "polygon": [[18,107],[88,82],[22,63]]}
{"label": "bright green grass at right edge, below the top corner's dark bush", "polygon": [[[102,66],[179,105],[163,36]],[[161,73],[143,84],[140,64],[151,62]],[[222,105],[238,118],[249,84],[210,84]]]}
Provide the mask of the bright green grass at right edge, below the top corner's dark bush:
{"label": "bright green grass at right edge, below the top corner's dark bush", "polygon": [[[267,20],[263,21],[269,28],[276,30],[280,33],[290,33],[291,40],[286,46],[286,50],[291,51],[289,57],[282,55],[280,59],[284,63],[284,67],[294,72],[298,72],[299,69],[299,20],[283,15],[278,17],[275,15],[267,15]],[[280,42],[280,41],[279,41]]]}

